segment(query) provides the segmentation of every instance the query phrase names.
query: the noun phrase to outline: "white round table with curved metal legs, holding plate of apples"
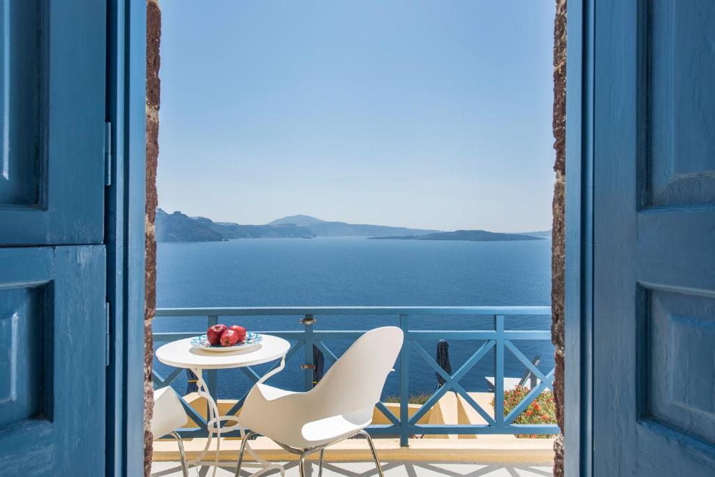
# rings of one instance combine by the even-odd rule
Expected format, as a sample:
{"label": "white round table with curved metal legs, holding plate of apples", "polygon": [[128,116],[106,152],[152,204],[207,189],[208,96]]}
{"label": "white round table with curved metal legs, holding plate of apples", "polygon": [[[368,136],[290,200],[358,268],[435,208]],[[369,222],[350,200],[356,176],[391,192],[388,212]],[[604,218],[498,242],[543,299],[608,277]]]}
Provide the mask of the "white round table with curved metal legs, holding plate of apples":
{"label": "white round table with curved metal legs, holding plate of apples", "polygon": [[[157,350],[157,359],[162,363],[174,366],[174,368],[186,368],[192,370],[194,375],[197,377],[197,387],[198,394],[202,398],[207,400],[209,403],[209,420],[207,421],[207,429],[209,431],[209,438],[206,440],[206,446],[204,450],[199,453],[199,456],[192,459],[191,463],[194,465],[200,465],[203,463],[204,456],[208,453],[209,446],[214,435],[217,438],[216,444],[216,457],[214,460],[214,475],[216,475],[216,468],[219,461],[219,449],[221,446],[221,434],[229,433],[235,431],[235,429],[240,429],[241,437],[245,438],[245,429],[240,426],[238,418],[235,415],[219,415],[218,405],[216,400],[209,393],[209,388],[204,382],[202,376],[202,370],[204,369],[228,369],[228,368],[243,368],[245,366],[260,365],[263,363],[270,363],[280,359],[280,365],[277,368],[270,370],[262,378],[260,378],[257,383],[263,383],[265,380],[270,378],[275,373],[278,373],[285,367],[285,355],[290,349],[290,343],[288,343],[283,338],[278,338],[272,335],[262,335],[263,339],[258,345],[252,346],[245,350],[235,350],[235,351],[207,351],[194,348],[191,345],[192,338],[186,338],[184,340],[172,341],[172,343],[167,343],[162,345]],[[222,423],[232,423],[230,426],[222,426]],[[280,470],[282,475],[285,475],[285,470],[282,466],[278,464],[273,464],[265,461],[263,458],[252,450],[250,445],[246,445],[246,450],[250,455],[261,464],[263,471],[270,470],[272,468],[277,468]]]}

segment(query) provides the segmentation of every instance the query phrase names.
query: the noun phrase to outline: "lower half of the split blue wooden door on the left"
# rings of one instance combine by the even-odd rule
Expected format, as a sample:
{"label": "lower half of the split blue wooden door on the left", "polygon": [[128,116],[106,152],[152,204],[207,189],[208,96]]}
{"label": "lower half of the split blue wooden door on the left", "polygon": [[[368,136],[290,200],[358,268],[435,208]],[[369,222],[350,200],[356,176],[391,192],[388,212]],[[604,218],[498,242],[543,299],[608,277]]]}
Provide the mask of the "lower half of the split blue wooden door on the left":
{"label": "lower half of the split blue wooden door on the left", "polygon": [[104,473],[105,260],[0,249],[0,475]]}

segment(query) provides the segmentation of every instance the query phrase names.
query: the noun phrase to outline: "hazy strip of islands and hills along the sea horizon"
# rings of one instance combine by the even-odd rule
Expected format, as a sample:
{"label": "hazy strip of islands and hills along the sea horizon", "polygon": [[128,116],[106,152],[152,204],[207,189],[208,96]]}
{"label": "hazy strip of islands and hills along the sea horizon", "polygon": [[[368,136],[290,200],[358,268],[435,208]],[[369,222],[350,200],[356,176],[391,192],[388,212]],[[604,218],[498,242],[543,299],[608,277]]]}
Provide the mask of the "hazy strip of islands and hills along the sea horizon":
{"label": "hazy strip of islands and hills along the sea horizon", "polygon": [[178,210],[169,214],[157,208],[154,229],[157,242],[222,242],[240,238],[365,237],[373,240],[543,240],[551,230],[507,234],[485,230],[410,229],[388,225],[350,224],[320,220],[310,215],[290,215],[265,225],[215,222],[207,217],[189,217]]}

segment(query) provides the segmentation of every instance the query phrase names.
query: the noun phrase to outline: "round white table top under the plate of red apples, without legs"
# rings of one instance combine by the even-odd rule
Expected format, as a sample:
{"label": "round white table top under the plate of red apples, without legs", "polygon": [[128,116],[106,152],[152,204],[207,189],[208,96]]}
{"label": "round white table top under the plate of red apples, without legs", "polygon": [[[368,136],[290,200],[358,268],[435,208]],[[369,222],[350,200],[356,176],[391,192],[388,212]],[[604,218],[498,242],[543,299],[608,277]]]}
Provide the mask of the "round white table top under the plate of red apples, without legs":
{"label": "round white table top under the plate of red apples, without legs", "polygon": [[290,343],[277,336],[263,335],[263,340],[247,350],[224,353],[193,348],[190,341],[172,341],[157,350],[157,359],[174,368],[189,369],[225,369],[260,365],[278,358],[283,358],[290,349]]}

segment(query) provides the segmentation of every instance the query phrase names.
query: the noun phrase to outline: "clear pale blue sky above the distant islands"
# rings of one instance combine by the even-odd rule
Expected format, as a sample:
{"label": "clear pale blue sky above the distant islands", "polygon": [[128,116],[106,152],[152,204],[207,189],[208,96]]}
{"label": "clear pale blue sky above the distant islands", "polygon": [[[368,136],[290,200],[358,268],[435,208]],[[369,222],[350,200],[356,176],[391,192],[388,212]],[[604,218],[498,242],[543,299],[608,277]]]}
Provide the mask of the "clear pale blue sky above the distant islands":
{"label": "clear pale blue sky above the distant islands", "polygon": [[159,205],[551,227],[554,2],[162,1]]}

